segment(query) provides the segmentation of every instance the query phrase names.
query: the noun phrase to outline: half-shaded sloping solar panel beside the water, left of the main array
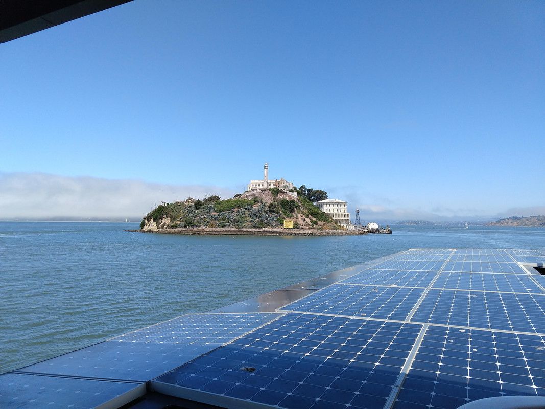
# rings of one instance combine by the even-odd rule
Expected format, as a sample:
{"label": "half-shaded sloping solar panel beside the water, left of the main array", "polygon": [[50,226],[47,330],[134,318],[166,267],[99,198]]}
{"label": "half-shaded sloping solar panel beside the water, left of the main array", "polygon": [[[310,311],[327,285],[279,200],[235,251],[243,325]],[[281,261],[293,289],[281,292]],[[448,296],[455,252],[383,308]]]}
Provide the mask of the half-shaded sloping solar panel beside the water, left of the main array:
{"label": "half-shaded sloping solar panel beside the water, left of the main array", "polygon": [[27,366],[20,371],[146,382],[277,316],[185,315]]}

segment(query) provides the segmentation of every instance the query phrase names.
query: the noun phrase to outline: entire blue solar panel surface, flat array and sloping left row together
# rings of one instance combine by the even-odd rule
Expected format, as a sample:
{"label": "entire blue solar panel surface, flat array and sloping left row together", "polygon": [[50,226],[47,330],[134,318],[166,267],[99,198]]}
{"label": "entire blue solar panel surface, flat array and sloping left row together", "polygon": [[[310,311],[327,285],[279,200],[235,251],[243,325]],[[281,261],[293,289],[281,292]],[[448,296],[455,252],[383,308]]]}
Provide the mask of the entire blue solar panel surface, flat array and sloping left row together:
{"label": "entire blue solar panel surface, flat array and sloping left row together", "polygon": [[[275,312],[187,315],[4,374],[0,406],[94,407],[148,380],[226,408],[456,409],[545,396],[545,277],[532,268],[544,261],[541,250],[403,251]],[[11,389],[36,389],[37,378],[47,393],[18,400]],[[59,397],[83,381],[84,404]]]}

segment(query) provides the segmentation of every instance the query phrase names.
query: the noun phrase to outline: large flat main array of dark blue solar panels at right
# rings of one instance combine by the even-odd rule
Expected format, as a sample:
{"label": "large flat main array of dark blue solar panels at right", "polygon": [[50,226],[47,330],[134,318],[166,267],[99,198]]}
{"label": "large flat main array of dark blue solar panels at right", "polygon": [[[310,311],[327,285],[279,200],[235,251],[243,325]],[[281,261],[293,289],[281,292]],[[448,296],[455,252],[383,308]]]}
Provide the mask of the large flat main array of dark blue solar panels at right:
{"label": "large flat main array of dark blue solar panels at right", "polygon": [[404,251],[152,384],[227,408],[454,409],[545,396],[545,278],[519,264],[544,260],[544,251]]}

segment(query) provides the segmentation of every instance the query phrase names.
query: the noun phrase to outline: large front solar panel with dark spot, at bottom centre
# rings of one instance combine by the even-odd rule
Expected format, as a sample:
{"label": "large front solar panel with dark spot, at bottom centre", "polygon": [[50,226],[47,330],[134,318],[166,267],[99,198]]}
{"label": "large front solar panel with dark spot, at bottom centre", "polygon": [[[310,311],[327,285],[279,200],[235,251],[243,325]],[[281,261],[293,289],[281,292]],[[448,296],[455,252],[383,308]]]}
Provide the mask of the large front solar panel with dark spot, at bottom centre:
{"label": "large front solar panel with dark spot, at bottom centre", "polygon": [[421,325],[327,318],[287,314],[157,381],[281,408],[382,408]]}

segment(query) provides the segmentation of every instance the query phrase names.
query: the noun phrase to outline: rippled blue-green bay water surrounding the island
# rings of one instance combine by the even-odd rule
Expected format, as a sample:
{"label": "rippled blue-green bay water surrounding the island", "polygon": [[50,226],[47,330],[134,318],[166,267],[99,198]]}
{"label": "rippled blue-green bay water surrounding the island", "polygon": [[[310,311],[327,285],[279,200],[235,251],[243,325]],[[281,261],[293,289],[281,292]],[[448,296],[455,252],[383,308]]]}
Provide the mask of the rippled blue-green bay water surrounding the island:
{"label": "rippled blue-green bay water surrounding the island", "polygon": [[0,372],[407,249],[545,249],[545,228],[186,236],[138,223],[0,222]]}

